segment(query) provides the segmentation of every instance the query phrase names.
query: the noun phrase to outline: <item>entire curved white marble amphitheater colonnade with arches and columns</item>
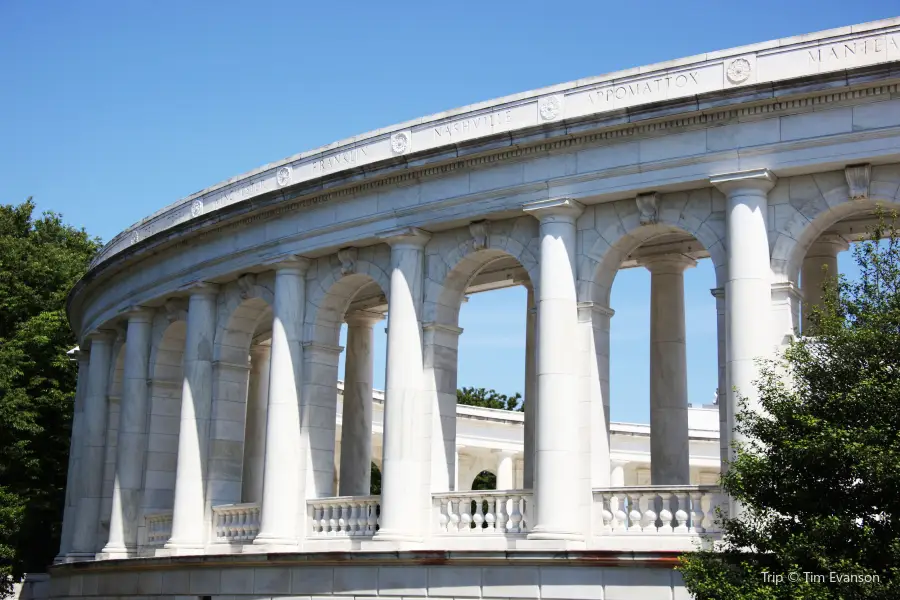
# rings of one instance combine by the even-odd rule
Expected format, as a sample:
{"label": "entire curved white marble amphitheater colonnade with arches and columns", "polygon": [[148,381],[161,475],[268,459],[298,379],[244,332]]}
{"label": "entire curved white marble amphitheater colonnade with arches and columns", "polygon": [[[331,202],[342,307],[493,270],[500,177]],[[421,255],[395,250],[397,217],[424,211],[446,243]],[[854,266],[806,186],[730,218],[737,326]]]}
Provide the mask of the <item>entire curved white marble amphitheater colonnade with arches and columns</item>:
{"label": "entire curved white marble amphitheater colonnade with arches and columns", "polygon": [[[69,297],[50,596],[686,598],[672,567],[729,510],[754,359],[900,205],[898,84],[900,18],[842,27],[423,117],[136,223]],[[689,408],[701,260],[719,401]],[[635,267],[649,427],[609,420],[610,290]],[[460,305],[508,286],[528,294],[526,411],[457,406]],[[483,470],[495,490],[471,489]]]}

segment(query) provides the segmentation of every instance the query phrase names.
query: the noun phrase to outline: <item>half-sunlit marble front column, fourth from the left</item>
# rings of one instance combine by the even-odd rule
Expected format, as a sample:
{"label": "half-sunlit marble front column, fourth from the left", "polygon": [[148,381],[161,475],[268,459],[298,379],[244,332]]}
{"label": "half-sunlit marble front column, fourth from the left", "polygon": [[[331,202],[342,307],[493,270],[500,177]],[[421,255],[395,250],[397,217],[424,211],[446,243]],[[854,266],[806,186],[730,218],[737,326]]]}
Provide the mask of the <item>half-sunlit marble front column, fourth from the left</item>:
{"label": "half-sunlit marble front column, fourth from the left", "polygon": [[217,293],[217,285],[201,283],[190,288],[188,300],[172,535],[165,545],[175,554],[200,550],[206,542],[203,486],[212,411]]}

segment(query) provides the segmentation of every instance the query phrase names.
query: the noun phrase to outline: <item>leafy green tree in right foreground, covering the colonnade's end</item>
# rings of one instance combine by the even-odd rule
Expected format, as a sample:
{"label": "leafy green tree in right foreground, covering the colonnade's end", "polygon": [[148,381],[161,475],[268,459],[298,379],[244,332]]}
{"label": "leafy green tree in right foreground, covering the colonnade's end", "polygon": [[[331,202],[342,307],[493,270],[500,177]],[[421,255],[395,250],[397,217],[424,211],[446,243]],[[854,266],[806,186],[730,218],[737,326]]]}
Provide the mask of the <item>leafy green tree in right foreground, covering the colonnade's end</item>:
{"label": "leafy green tree in right foreground, covering the colonnade's end", "polygon": [[900,598],[900,239],[887,231],[882,218],[855,248],[859,279],[826,285],[812,335],[763,363],[764,410],[742,408],[748,441],[722,477],[741,513],[679,567],[695,598]]}

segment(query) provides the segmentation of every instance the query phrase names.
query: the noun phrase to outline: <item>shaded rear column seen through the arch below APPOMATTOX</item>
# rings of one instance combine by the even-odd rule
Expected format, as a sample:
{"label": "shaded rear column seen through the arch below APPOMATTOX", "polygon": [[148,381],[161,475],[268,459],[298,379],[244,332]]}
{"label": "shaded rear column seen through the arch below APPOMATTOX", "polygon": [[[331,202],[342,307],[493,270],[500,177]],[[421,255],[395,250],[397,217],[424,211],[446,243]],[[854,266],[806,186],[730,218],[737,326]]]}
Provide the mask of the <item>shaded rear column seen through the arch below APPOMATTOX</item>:
{"label": "shaded rear column seen through the arch below APPOMATTOX", "polygon": [[650,481],[690,483],[684,271],[681,254],[647,258],[650,271]]}

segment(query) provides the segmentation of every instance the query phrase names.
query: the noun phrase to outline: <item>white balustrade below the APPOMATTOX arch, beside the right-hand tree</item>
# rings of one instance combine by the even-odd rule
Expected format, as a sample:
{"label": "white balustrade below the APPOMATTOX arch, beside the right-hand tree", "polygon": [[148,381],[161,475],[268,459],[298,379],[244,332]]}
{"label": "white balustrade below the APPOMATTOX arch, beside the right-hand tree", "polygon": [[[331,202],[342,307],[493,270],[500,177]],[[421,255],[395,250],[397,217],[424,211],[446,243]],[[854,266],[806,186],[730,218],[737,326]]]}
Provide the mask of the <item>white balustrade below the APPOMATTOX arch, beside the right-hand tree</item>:
{"label": "white balustrade below the APPOMATTOX arch, beside the right-hand tree", "polygon": [[642,486],[595,489],[600,535],[718,533],[716,509],[728,510],[718,486]]}

